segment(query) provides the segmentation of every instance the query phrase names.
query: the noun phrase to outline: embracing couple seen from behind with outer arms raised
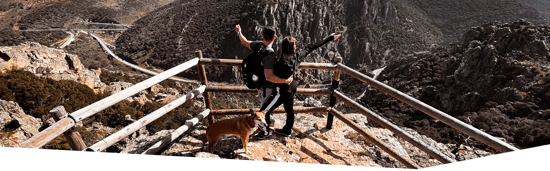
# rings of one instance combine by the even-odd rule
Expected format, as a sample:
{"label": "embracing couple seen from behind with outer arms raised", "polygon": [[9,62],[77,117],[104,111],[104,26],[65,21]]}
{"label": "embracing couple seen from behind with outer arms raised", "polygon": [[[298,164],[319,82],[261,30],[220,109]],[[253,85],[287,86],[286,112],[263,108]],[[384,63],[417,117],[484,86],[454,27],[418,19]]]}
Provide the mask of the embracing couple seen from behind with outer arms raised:
{"label": "embracing couple seen from behind with outer arms raised", "polygon": [[[259,129],[260,133],[255,135],[256,138],[264,139],[273,132],[269,127],[271,124],[270,114],[281,105],[284,106],[284,111],[287,112],[287,121],[282,129],[275,129],[274,133],[290,136],[294,126],[293,107],[294,94],[296,93],[296,83],[293,79],[294,71],[298,69],[301,62],[313,50],[334,41],[341,35],[332,33],[326,39],[315,44],[308,44],[306,49],[300,51],[296,49],[296,39],[287,36],[283,38],[281,43],[281,55],[277,56],[271,48],[273,41],[277,38],[276,28],[273,25],[268,24],[263,27],[263,41],[249,41],[241,33],[239,25],[235,26],[235,31],[237,31],[243,45],[254,51],[252,55],[243,60],[242,70],[245,84],[249,88],[258,89],[258,95],[261,98],[260,111],[265,113],[265,121],[267,122],[267,128]],[[246,64],[249,66],[247,67]],[[256,70],[257,72],[248,70]]]}

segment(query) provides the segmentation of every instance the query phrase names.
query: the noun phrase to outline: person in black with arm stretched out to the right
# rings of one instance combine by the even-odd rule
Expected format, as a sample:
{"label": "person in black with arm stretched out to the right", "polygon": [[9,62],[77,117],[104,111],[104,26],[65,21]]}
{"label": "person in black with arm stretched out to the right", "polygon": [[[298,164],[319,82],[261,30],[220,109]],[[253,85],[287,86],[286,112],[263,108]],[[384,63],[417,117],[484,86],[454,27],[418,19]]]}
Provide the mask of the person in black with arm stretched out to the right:
{"label": "person in black with arm stretched out to the right", "polygon": [[[323,41],[315,44],[308,44],[307,48],[296,52],[296,39],[291,36],[287,36],[281,43],[281,56],[280,59],[274,65],[273,74],[283,79],[291,78],[294,75],[294,71],[288,70],[288,65],[293,66],[293,69],[297,69],[305,57],[313,52],[313,50],[322,47],[324,44],[338,39],[342,35],[335,35],[332,33]],[[294,66],[295,65],[295,66]],[[284,69],[284,70],[283,70]],[[290,79],[292,80],[292,79]],[[269,81],[269,80],[268,80]],[[271,96],[263,103],[260,111],[267,110],[266,122],[269,126],[271,124],[271,111],[283,104],[284,111],[287,112],[287,122],[283,129],[275,129],[275,133],[285,136],[290,136],[292,133],[292,127],[294,126],[294,94],[296,94],[296,83],[292,81],[290,83],[276,83],[276,88],[272,91]],[[264,139],[269,135],[270,128],[262,130],[256,135],[259,139]]]}

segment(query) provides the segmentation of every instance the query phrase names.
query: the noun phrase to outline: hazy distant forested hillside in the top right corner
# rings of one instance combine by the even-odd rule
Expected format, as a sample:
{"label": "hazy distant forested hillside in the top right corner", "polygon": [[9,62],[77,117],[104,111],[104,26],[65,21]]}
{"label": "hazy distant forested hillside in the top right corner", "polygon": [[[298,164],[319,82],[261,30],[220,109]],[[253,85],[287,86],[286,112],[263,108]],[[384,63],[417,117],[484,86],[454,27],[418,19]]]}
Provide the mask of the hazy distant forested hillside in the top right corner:
{"label": "hazy distant forested hillside in the top right corner", "polygon": [[533,6],[524,5],[518,0],[412,0],[426,12],[430,22],[441,29],[444,43],[455,42],[468,28],[488,21],[508,22],[514,19],[527,19],[541,23],[543,15]]}

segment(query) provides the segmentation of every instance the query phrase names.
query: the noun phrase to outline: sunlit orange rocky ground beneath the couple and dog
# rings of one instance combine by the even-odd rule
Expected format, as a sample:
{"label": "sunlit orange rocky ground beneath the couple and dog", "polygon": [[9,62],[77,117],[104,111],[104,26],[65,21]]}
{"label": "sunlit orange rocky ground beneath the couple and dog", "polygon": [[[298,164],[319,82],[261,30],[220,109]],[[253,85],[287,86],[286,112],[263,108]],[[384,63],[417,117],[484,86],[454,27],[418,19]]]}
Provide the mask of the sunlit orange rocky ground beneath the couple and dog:
{"label": "sunlit orange rocky ground beneath the couple and dog", "polygon": [[[405,156],[409,156],[421,167],[441,164],[427,156],[426,153],[398,138],[389,130],[365,126],[367,122],[365,116],[357,113],[349,113],[346,116],[355,122],[359,121],[359,124],[363,125],[366,130],[375,134],[379,139],[390,144],[392,148],[397,149]],[[281,128],[284,125],[283,114],[276,114],[273,118],[276,118],[274,128]],[[222,140],[221,150],[226,155],[217,155],[218,152],[215,150],[213,151],[214,154],[207,153],[207,145],[202,143],[206,133],[204,124],[199,124],[188,132],[188,135],[175,140],[161,155],[371,167],[404,167],[386,152],[368,143],[361,135],[339,120],[335,120],[331,130],[323,128],[326,124],[326,118],[324,117],[316,117],[309,113],[298,113],[295,120],[296,123],[290,137],[273,134],[263,140],[251,138],[249,151],[252,153],[250,155],[244,153],[240,138],[235,136],[229,136]],[[459,160],[491,155],[491,153],[485,151],[472,150],[471,147],[464,145],[460,146],[460,150],[451,153],[455,149],[454,145],[437,143],[430,138],[426,138],[426,136],[419,135],[412,129],[404,129],[416,138],[425,141],[434,149]]]}

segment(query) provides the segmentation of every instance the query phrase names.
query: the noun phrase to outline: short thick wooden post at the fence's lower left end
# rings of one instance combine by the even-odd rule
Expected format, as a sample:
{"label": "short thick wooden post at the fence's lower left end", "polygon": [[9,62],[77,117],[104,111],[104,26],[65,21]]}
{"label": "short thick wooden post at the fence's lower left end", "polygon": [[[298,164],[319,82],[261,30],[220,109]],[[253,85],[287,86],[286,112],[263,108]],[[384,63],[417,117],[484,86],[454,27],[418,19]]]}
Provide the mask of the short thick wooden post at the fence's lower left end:
{"label": "short thick wooden post at the fence's lower left end", "polygon": [[[57,106],[50,111],[50,116],[52,116],[56,122],[60,120],[59,117],[64,115],[67,115],[67,110],[65,110],[64,106]],[[67,142],[74,151],[82,151],[86,149],[86,144],[84,143],[82,136],[80,136],[80,133],[76,131],[75,126],[65,131],[63,136],[65,136],[65,139],[67,139]]]}

